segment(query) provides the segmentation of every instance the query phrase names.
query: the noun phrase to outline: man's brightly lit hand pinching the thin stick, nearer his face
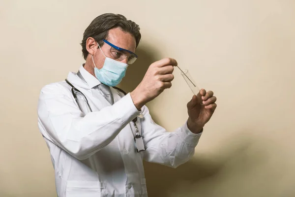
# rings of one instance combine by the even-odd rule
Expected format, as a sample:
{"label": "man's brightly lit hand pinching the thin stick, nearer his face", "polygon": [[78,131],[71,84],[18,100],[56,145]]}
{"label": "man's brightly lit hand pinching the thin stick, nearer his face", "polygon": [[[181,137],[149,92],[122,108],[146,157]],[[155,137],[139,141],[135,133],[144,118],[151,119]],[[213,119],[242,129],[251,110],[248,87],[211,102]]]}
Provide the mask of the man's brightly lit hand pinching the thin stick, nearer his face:
{"label": "man's brightly lit hand pinching the thin stick, nearer his face", "polygon": [[138,110],[148,101],[159,96],[165,89],[172,86],[172,74],[177,62],[172,58],[165,58],[152,63],[148,67],[141,83],[130,93],[134,105]]}

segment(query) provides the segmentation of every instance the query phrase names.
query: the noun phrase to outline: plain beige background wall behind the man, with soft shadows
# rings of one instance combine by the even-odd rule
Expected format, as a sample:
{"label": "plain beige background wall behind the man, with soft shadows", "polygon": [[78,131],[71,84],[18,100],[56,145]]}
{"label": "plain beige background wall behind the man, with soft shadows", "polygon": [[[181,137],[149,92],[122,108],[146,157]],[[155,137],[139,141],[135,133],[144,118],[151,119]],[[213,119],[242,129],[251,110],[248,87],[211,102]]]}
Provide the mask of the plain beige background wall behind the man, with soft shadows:
{"label": "plain beige background wall behind the man, with soft shadows", "polygon": [[[218,98],[191,161],[145,164],[149,196],[295,196],[294,0],[1,0],[0,197],[56,196],[39,91],[78,70],[82,34],[105,12],[142,29],[121,87],[131,91],[150,63],[173,57]],[[191,97],[175,70],[173,87],[148,106],[173,131]]]}

